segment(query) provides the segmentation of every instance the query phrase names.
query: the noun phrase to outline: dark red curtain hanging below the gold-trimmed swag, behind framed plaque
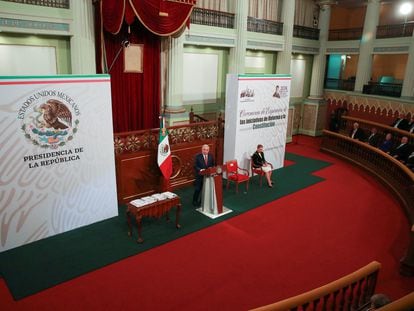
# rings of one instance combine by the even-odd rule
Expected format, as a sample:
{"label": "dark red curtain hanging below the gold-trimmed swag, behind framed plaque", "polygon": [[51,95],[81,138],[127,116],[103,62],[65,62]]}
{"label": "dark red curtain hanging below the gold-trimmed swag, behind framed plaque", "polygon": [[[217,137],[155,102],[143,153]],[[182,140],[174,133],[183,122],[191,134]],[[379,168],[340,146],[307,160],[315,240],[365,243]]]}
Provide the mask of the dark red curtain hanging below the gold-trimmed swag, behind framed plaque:
{"label": "dark red curtain hanging below the gold-trimmed swag, behind framed plaque", "polygon": [[[160,38],[150,33],[139,22],[124,24],[120,35],[105,33],[105,50],[111,71],[112,115],[116,133],[159,126],[160,113]],[[124,73],[122,41],[143,44],[143,73]]]}

